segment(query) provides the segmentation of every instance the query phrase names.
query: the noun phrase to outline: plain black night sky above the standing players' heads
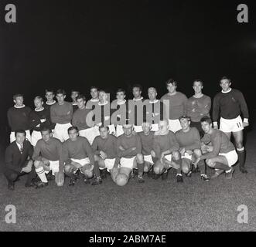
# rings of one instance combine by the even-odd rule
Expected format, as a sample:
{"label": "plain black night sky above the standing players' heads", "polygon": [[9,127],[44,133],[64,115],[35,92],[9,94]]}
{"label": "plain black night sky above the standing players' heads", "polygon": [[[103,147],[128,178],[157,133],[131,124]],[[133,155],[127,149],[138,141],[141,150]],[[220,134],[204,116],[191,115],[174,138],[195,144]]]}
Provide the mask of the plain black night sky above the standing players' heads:
{"label": "plain black night sky above the standing players' heads", "polygon": [[[15,24],[5,23],[8,3],[16,5]],[[249,8],[247,24],[237,22],[241,3]],[[88,96],[92,85],[113,93],[141,83],[144,94],[155,86],[161,96],[171,77],[187,96],[195,78],[214,96],[220,77],[230,76],[250,110],[255,23],[253,1],[0,0],[2,121],[16,92],[24,93],[29,106],[47,87]]]}

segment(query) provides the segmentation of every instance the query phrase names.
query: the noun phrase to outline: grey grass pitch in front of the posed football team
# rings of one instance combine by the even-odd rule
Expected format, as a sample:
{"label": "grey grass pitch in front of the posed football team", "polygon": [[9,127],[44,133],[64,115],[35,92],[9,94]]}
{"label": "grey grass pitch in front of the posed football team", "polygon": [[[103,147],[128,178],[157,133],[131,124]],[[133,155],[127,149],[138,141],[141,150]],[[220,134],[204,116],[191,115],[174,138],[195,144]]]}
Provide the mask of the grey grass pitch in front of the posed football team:
{"label": "grey grass pitch in front of the posed football team", "polygon": [[[176,183],[145,176],[121,188],[108,177],[96,187],[78,181],[74,187],[25,188],[25,178],[7,189],[0,174],[1,231],[256,231],[256,131],[247,134],[248,174],[235,167],[234,178],[223,175],[203,182],[199,174]],[[208,169],[208,174],[213,171]],[[16,224],[5,223],[5,206],[15,205]],[[237,207],[247,205],[248,224],[237,222]]]}

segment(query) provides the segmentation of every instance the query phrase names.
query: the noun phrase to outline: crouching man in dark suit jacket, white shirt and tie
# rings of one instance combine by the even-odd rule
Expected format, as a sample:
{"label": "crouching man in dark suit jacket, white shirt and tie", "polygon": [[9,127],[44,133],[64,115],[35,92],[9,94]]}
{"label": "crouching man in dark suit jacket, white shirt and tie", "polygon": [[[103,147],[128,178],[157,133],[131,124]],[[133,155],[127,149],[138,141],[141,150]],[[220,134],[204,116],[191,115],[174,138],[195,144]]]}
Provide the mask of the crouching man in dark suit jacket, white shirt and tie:
{"label": "crouching man in dark suit jacket, white shirt and tie", "polygon": [[9,144],[5,151],[4,174],[8,181],[8,188],[14,190],[14,182],[19,176],[28,174],[26,187],[34,186],[32,179],[36,178],[35,168],[32,166],[33,148],[26,140],[25,130],[15,130],[15,141]]}

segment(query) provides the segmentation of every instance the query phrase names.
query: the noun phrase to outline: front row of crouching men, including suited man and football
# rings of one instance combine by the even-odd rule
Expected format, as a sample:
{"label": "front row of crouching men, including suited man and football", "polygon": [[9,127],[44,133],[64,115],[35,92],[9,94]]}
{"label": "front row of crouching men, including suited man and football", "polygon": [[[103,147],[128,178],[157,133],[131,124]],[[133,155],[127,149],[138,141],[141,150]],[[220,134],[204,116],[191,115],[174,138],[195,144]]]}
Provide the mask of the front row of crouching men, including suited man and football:
{"label": "front row of crouching men, including suited man and football", "polygon": [[34,150],[26,140],[26,131],[16,130],[15,141],[5,152],[8,188],[13,190],[15,181],[23,174],[28,174],[26,187],[43,188],[53,178],[57,186],[63,186],[65,175],[70,178],[69,185],[81,176],[85,184],[96,185],[108,173],[114,183],[124,186],[135,176],[139,183],[144,183],[145,173],[165,180],[171,167],[176,170],[177,182],[183,182],[183,174],[190,177],[197,171],[203,181],[209,181],[207,166],[215,169],[211,178],[224,172],[227,179],[232,178],[237,152],[227,135],[212,127],[210,117],[200,120],[205,133],[202,139],[199,131],[189,126],[189,117],[179,117],[179,122],[182,129],[176,134],[169,130],[168,120],[161,120],[155,132],[147,122],[142,123],[140,133],[125,124],[120,137],[111,135],[108,127],[99,127],[100,135],[92,145],[79,136],[77,127],[67,130],[69,139],[63,143],[53,137],[49,128],[43,128],[42,139]]}

